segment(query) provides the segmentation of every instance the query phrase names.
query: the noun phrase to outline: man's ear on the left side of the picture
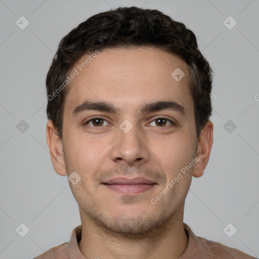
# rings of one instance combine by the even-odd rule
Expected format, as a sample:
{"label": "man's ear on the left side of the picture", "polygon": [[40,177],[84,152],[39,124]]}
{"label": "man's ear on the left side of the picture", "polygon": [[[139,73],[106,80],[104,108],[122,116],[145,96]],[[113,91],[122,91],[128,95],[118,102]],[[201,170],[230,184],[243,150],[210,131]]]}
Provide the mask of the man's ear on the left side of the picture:
{"label": "man's ear on the left side of the picture", "polygon": [[63,154],[62,140],[57,134],[56,128],[51,120],[47,123],[47,143],[50,150],[54,170],[60,176],[66,176],[65,158]]}

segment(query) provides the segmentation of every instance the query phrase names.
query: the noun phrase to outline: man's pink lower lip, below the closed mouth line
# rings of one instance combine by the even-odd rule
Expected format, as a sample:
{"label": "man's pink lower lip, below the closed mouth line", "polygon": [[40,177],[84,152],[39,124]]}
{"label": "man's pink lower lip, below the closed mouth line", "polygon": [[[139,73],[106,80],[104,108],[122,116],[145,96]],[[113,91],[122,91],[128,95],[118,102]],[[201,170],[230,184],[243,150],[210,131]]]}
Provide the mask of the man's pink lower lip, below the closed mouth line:
{"label": "man's pink lower lip, below the closed mouth line", "polygon": [[105,186],[113,191],[127,194],[136,194],[151,189],[155,184],[105,184]]}

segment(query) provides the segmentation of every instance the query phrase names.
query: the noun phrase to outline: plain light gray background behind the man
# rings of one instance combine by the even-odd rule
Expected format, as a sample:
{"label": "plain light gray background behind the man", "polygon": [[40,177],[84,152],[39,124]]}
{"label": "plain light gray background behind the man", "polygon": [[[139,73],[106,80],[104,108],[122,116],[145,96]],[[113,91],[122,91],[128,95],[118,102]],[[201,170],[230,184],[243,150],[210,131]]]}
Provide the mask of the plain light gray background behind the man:
{"label": "plain light gray background behind the man", "polygon": [[[0,1],[0,259],[32,258],[68,242],[80,225],[68,180],[48,151],[45,78],[64,35],[119,6],[158,9],[196,34],[214,70],[214,143],[204,175],[193,178],[184,222],[198,236],[258,257],[258,2]],[[30,23],[24,30],[16,25],[21,16]],[[231,30],[223,23],[229,16],[237,21]],[[23,133],[21,120],[29,125]],[[21,223],[30,230],[25,237],[16,232]],[[237,229],[232,237],[223,231],[229,223]]]}

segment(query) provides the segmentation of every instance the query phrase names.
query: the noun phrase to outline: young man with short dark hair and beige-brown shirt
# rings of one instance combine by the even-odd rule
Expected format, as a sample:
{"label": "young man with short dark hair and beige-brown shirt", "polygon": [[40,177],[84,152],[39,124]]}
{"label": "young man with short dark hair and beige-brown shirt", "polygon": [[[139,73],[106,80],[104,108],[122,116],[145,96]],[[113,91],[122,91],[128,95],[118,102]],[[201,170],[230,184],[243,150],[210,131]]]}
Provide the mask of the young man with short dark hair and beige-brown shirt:
{"label": "young man with short dark hair and beige-brown shirt", "polygon": [[253,258],[183,223],[213,142],[212,70],[194,33],[157,10],[90,17],[48,72],[47,142],[81,225],[41,258]]}

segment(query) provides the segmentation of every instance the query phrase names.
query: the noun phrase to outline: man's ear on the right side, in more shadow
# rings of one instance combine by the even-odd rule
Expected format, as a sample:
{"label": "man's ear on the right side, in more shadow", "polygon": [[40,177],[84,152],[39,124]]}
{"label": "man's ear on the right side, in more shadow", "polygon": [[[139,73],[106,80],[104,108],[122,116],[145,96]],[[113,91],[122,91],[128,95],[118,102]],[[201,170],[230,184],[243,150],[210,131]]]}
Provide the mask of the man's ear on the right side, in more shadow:
{"label": "man's ear on the right side, in more shadow", "polygon": [[[194,177],[201,177],[207,166],[211,147],[213,143],[213,123],[209,120],[203,127],[198,139],[198,147],[196,150],[196,164],[193,169]],[[198,160],[199,159],[199,160]]]}

